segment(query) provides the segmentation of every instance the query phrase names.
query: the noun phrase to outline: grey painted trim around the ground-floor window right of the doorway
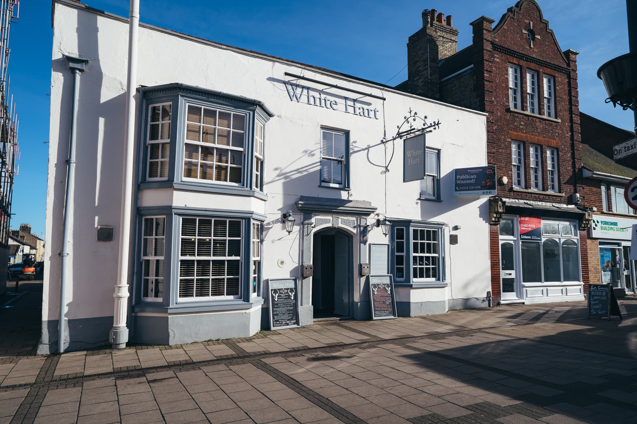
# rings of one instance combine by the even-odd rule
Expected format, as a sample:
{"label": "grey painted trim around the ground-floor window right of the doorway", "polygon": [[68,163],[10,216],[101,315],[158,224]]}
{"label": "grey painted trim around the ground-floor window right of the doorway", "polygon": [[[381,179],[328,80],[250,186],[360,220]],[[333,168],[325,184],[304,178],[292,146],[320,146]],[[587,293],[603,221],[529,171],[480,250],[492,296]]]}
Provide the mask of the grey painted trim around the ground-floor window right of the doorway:
{"label": "grey painted trim around the ground-floor window right of the doorway", "polygon": [[[396,287],[447,287],[447,233],[445,231],[444,222],[435,222],[435,221],[419,221],[415,219],[391,219],[389,221],[392,224],[392,229],[390,231],[390,267],[391,274],[394,276],[394,285]],[[405,228],[405,269],[404,269],[404,280],[397,281],[396,280],[396,227],[404,227]],[[413,253],[413,245],[412,245],[412,229],[414,228],[427,228],[427,229],[438,229],[438,240],[439,240],[439,252],[440,252],[440,266],[438,269],[440,270],[440,280],[437,281],[413,281],[412,277],[412,253]]]}

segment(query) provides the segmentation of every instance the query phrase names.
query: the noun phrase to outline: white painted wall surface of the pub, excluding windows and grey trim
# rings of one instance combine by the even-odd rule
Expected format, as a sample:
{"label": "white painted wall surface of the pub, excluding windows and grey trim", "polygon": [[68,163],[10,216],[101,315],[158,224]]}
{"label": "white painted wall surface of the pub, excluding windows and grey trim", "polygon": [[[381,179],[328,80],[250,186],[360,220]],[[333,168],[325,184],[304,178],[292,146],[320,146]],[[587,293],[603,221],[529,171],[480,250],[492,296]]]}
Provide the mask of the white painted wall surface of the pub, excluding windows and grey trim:
{"label": "white painted wall surface of the pub, excluding windows and grey trim", "polygon": [[[143,16],[141,17],[143,21]],[[46,216],[46,266],[43,319],[57,318],[64,186],[71,114],[72,74],[63,55],[89,58],[80,80],[76,183],[71,222],[68,318],[104,317],[113,313],[113,290],[117,273],[117,228],[120,217],[122,146],[124,139],[124,89],[126,80],[127,21],[85,10],[80,5],[55,3],[52,51],[49,179]],[[268,216],[263,246],[263,277],[300,277],[299,233],[287,235],[279,219],[288,209],[295,212],[299,196],[323,196],[368,200],[387,217],[445,222],[461,225],[460,242],[447,243],[448,289],[412,291],[411,301],[483,297],[490,286],[488,208],[485,198],[454,198],[453,170],[486,164],[485,114],[381,90],[334,74],[304,69],[282,60],[240,52],[223,46],[140,27],[138,83],[154,86],[185,83],[211,90],[262,100],[275,113],[266,125],[264,189],[268,201],[243,196],[224,196],[172,189],[143,190],[139,206],[181,205],[219,209],[254,210]],[[303,74],[366,93],[382,95],[383,102],[361,97],[360,104],[376,107],[378,120],[342,111],[342,96],[353,93],[327,88],[341,111],[291,102],[282,84],[284,72]],[[311,88],[317,83],[299,81]],[[139,106],[139,105],[138,105]],[[396,125],[410,107],[430,120],[440,120],[439,130],[427,136],[427,145],[441,149],[441,197],[443,202],[419,201],[419,182],[402,182],[402,142],[388,174],[381,174],[385,147],[379,142],[392,137]],[[351,191],[318,187],[320,127],[350,132]],[[371,145],[369,149],[366,146]],[[392,144],[387,147],[387,157]],[[386,190],[385,190],[386,187]],[[386,195],[385,195],[386,191]],[[96,226],[115,226],[115,240],[96,242]],[[450,228],[447,228],[449,233]],[[380,229],[371,231],[369,243],[387,242]],[[355,247],[357,255],[358,247]],[[285,258],[285,268],[276,259]],[[402,295],[401,295],[402,296]]]}

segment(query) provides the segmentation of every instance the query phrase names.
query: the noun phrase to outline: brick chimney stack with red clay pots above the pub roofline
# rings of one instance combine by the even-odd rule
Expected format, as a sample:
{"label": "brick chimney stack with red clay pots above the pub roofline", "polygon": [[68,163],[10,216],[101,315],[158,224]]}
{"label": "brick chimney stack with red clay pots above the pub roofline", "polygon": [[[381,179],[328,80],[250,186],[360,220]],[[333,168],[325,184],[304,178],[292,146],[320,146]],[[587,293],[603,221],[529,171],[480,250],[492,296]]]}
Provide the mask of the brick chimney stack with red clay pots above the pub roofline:
{"label": "brick chimney stack with red clay pots above the pub roofline", "polygon": [[438,10],[422,11],[422,28],[407,43],[407,90],[415,95],[440,99],[438,65],[458,51],[458,30],[452,16]]}

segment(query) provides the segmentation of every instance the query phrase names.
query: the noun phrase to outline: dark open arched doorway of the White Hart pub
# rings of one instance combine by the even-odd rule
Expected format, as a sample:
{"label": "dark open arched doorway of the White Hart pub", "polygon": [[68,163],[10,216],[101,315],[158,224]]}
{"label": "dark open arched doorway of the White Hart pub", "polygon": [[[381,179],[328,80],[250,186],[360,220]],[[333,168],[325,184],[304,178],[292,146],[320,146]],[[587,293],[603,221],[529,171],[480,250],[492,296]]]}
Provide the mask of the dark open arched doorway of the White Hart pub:
{"label": "dark open arched doorway of the White Hart pub", "polygon": [[324,229],[314,235],[314,319],[351,317],[352,260],[352,236],[338,229]]}

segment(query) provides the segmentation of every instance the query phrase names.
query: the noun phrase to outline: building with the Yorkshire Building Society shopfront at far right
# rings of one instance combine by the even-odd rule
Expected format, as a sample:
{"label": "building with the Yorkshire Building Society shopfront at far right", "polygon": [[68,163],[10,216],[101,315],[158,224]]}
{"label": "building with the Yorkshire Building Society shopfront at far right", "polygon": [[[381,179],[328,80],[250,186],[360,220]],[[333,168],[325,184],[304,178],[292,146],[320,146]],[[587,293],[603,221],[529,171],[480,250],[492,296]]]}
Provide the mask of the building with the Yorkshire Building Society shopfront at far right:
{"label": "building with the Yorkshire Building Society shopfront at far right", "polygon": [[[584,198],[596,210],[588,240],[591,284],[612,284],[618,294],[637,293],[637,261],[631,261],[630,229],[636,211],[624,200],[624,187],[637,177],[637,154],[613,160],[613,145],[635,133],[580,113]],[[626,165],[626,166],[624,166]]]}

